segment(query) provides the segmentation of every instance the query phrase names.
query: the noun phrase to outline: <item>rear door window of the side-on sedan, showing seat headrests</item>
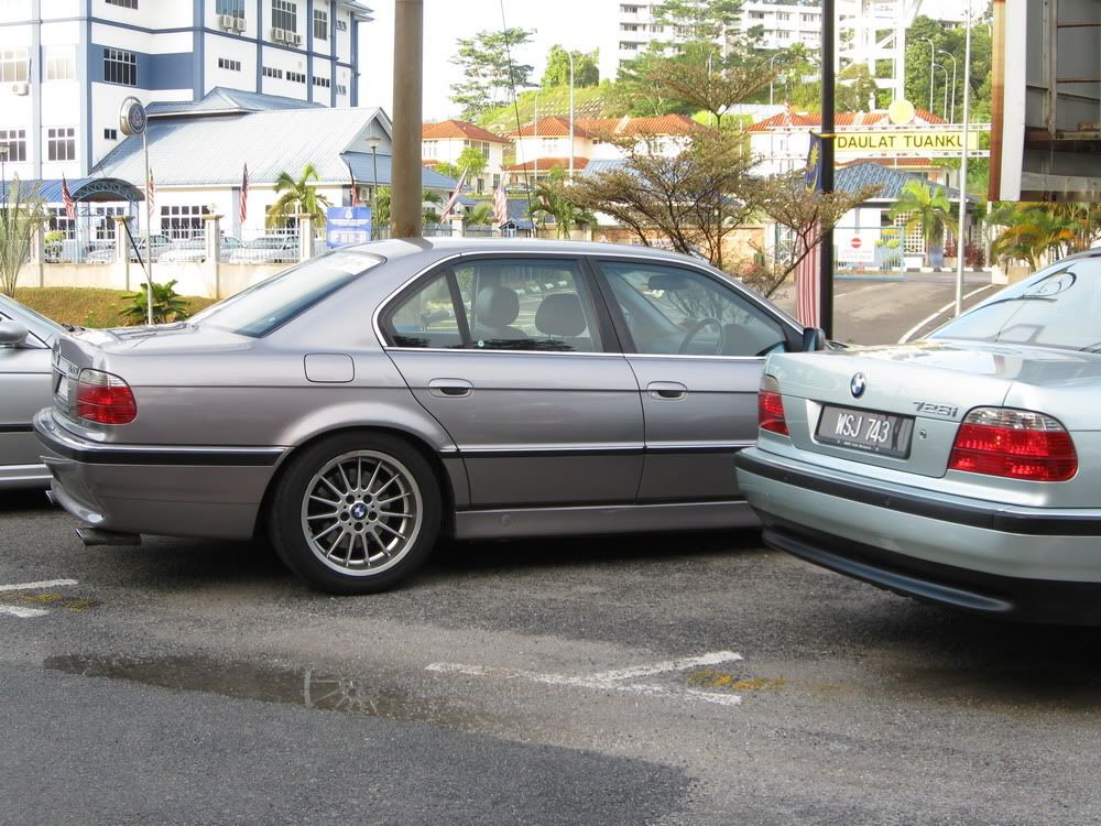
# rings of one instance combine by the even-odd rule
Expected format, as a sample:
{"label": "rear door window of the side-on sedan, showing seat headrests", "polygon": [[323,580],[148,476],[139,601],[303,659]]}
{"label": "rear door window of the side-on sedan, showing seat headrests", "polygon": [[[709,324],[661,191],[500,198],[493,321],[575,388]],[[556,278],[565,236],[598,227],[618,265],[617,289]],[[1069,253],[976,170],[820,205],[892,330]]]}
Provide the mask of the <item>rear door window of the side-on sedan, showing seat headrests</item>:
{"label": "rear door window of the side-on sedan, showing seat headrests", "polygon": [[473,349],[603,350],[576,261],[492,258],[459,263],[455,276]]}

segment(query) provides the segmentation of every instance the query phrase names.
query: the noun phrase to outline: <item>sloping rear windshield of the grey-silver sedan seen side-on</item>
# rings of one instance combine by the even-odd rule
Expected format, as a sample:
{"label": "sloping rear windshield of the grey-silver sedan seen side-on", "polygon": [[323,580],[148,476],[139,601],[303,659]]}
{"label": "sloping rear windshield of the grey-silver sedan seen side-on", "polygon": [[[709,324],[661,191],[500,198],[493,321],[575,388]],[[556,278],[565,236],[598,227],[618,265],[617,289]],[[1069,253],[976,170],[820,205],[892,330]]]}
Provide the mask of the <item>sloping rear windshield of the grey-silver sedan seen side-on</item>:
{"label": "sloping rear windshield of the grey-silver sedan seen side-on", "polygon": [[190,323],[253,338],[266,336],[382,261],[344,250],[319,256],[207,307]]}

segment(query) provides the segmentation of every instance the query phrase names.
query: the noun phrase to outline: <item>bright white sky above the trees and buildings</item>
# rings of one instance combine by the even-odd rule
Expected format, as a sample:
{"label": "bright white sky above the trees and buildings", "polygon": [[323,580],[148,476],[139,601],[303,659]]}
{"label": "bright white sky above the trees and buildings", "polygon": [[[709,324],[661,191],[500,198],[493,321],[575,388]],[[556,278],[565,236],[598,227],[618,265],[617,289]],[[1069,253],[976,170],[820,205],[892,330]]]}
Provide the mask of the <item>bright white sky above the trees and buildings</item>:
{"label": "bright white sky above the trees and buildings", "polygon": [[[967,2],[978,12],[989,0],[923,0],[922,13],[960,17]],[[360,106],[381,106],[393,112],[394,0],[364,0],[374,10],[374,22],[360,29]],[[458,39],[504,24],[534,29],[533,42],[513,55],[517,63],[535,67],[532,79],[543,77],[550,46],[591,52],[600,45],[602,26],[620,0],[424,0],[424,97],[425,121],[458,116],[448,100],[458,67],[449,63],[458,51]],[[604,13],[604,8],[610,11]],[[599,12],[599,13],[597,13]]]}

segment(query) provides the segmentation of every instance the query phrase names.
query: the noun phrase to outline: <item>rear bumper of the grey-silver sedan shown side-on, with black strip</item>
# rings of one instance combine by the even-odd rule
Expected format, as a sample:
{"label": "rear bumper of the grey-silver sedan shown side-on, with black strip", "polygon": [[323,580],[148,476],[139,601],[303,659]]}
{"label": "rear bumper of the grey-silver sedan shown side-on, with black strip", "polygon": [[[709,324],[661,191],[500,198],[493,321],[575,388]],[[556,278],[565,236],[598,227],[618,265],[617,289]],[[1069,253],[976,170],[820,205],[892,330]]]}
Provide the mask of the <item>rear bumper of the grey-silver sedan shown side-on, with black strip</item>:
{"label": "rear bumper of the grey-silver sedan shown side-on, with black strip", "polygon": [[94,528],[170,536],[248,539],[283,448],[103,445],[58,425],[34,431],[53,456],[57,503]]}

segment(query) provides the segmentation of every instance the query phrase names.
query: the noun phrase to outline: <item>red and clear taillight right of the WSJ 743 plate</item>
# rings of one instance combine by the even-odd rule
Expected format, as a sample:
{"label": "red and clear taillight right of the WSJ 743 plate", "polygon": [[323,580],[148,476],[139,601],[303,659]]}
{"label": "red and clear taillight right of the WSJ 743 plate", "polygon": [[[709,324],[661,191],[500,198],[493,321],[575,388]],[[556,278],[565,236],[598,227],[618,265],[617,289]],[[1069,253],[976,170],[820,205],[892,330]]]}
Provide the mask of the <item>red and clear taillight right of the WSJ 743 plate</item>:
{"label": "red and clear taillight right of the WSJ 743 plate", "polygon": [[1070,434],[1050,416],[977,407],[956,432],[948,467],[1027,481],[1066,481],[1078,472],[1078,454]]}

